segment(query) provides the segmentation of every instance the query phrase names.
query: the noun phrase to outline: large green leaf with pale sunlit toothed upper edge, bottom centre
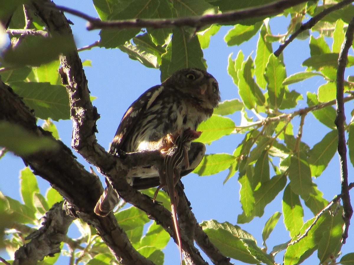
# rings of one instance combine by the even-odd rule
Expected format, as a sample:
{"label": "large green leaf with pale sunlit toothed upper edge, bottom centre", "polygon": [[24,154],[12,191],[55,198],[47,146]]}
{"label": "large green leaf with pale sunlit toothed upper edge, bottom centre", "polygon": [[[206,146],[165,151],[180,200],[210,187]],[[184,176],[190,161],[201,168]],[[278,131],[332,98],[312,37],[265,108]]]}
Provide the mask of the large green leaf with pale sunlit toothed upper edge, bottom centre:
{"label": "large green leaf with pale sunlit toothed upper edge, bottom centre", "polygon": [[255,239],[239,226],[228,222],[218,223],[216,220],[204,221],[200,225],[208,235],[210,241],[223,255],[245,263],[259,263],[241,240],[247,238],[255,241]]}

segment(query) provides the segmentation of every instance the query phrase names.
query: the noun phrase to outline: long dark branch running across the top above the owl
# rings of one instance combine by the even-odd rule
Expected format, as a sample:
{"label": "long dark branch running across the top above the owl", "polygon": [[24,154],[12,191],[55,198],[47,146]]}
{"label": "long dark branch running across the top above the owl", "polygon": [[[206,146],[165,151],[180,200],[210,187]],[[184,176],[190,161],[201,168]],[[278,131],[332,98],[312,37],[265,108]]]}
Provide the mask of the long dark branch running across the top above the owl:
{"label": "long dark branch running across the top above the owl", "polygon": [[[193,28],[200,28],[205,25],[216,23],[235,22],[246,18],[255,18],[261,16],[273,16],[281,13],[286,8],[296,6],[307,0],[280,0],[268,5],[257,6],[237,10],[233,12],[225,12],[222,14],[182,17],[172,19],[127,19],[127,20],[111,20],[102,21],[99,18],[94,18],[84,14],[78,10],[73,10],[64,6],[53,6],[60,11],[68,12],[77,17],[81,17],[89,22],[88,30],[93,29],[128,29],[128,28],[171,28],[189,26]],[[52,7],[52,6],[51,6]]]}

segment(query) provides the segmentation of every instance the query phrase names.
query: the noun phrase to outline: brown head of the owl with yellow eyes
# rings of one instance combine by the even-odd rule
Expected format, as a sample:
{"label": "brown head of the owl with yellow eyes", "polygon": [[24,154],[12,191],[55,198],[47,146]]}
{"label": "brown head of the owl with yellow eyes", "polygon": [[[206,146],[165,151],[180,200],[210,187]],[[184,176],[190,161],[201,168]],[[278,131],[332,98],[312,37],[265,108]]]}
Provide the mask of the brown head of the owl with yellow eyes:
{"label": "brown head of the owl with yellow eyes", "polygon": [[216,108],[221,100],[216,79],[208,72],[198,68],[179,70],[163,83],[180,92],[185,99],[192,99],[203,108]]}

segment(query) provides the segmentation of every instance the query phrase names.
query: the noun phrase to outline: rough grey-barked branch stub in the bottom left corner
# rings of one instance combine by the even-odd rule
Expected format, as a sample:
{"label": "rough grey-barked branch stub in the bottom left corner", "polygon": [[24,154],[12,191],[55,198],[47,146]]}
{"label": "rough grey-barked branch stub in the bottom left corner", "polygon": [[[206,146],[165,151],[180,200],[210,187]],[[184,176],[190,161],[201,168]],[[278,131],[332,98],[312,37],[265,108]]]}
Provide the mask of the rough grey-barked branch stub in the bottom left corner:
{"label": "rough grey-barked branch stub in the bottom left corner", "polygon": [[63,210],[63,202],[53,205],[44,216],[42,227],[26,237],[31,241],[16,251],[13,265],[35,265],[45,256],[60,253],[60,243],[74,219]]}

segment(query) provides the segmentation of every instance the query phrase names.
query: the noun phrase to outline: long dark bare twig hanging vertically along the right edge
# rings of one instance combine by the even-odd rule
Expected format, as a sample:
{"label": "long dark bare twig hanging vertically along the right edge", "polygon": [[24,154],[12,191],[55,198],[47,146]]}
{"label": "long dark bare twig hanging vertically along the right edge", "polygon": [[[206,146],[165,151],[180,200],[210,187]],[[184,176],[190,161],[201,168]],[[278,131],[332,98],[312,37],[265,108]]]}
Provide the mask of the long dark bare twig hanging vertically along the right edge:
{"label": "long dark bare twig hanging vertically along the right edge", "polygon": [[341,186],[342,186],[342,202],[343,202],[343,220],[344,232],[342,235],[342,243],[346,243],[350,218],[353,214],[353,208],[350,204],[350,195],[348,189],[348,165],[347,165],[347,146],[344,123],[346,116],[344,114],[344,72],[348,61],[348,51],[353,44],[354,34],[354,17],[350,21],[347,29],[344,43],[339,52],[338,70],[337,70],[337,116],[335,124],[338,130],[338,154],[341,163]]}

